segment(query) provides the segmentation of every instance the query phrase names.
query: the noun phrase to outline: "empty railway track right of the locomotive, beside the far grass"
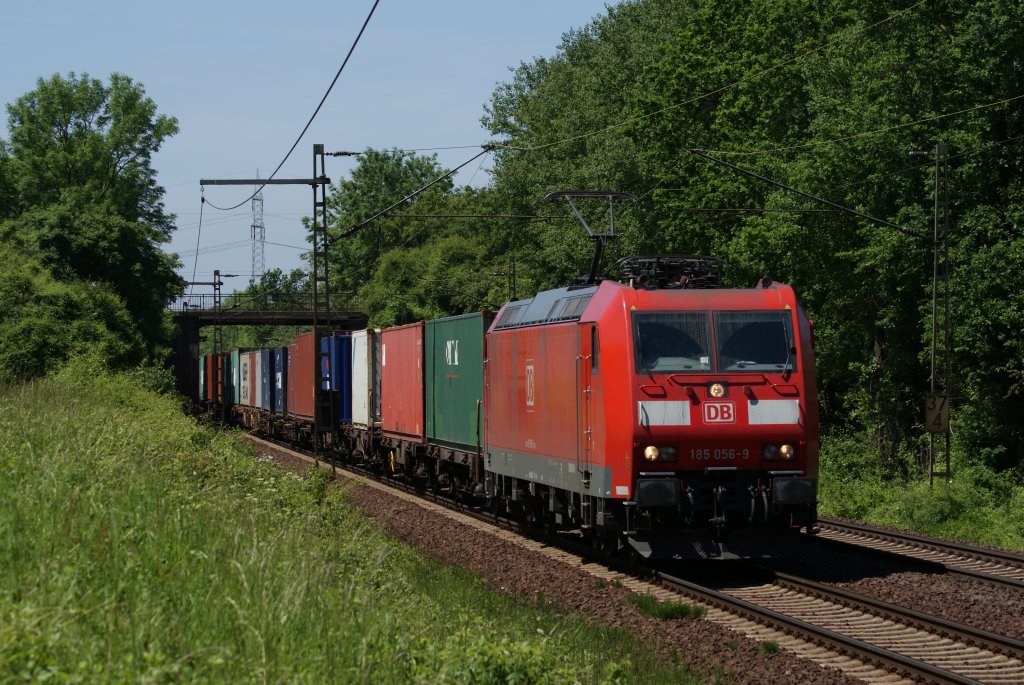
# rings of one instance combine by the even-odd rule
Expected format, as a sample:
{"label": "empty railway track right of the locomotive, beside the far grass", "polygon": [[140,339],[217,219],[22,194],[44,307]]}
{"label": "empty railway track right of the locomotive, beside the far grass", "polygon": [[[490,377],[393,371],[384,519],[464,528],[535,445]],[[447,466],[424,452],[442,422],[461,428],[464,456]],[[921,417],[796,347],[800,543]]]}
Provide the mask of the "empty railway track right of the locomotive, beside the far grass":
{"label": "empty railway track right of the locomotive, beside the far grass", "polygon": [[854,546],[885,555],[910,557],[957,573],[1024,590],[1024,555],[936,540],[863,523],[823,517],[817,544]]}

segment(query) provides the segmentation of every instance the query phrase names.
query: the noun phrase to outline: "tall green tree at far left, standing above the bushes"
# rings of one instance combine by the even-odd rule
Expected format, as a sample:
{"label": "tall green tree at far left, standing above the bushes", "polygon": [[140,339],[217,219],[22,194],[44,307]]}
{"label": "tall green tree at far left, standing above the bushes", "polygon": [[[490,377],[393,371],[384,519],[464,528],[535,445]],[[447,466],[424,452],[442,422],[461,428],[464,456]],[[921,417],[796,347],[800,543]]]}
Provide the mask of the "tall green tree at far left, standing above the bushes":
{"label": "tall green tree at far left, standing above the bushes", "polygon": [[171,331],[164,308],[181,283],[177,259],[160,249],[174,217],[152,159],[176,120],[120,74],[109,85],[74,73],[39,79],[7,112],[0,194],[13,198],[0,211],[0,240],[38,253],[58,280],[108,284],[146,353],[159,355]]}

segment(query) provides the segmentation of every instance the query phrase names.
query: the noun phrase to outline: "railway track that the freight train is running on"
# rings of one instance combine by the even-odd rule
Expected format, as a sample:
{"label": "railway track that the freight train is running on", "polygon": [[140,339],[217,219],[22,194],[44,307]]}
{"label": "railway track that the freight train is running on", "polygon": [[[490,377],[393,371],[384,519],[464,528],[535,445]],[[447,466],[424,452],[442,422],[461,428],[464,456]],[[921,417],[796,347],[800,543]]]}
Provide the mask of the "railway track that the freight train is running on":
{"label": "railway track that the freight train is running on", "polygon": [[[263,442],[258,438],[254,441]],[[312,461],[288,447],[264,444]],[[774,642],[865,682],[1024,682],[1024,642],[1012,638],[778,573],[773,583],[727,590],[663,574],[652,583],[646,580],[649,569],[628,564],[611,567],[582,555],[571,546],[523,538],[510,529],[515,526],[496,522],[493,516],[464,508],[453,511],[444,504],[395,490],[390,484],[366,482],[489,534],[514,541],[553,561],[579,567],[596,579],[621,584],[632,592],[650,594],[663,601],[682,599],[703,605],[709,620],[762,643]]]}

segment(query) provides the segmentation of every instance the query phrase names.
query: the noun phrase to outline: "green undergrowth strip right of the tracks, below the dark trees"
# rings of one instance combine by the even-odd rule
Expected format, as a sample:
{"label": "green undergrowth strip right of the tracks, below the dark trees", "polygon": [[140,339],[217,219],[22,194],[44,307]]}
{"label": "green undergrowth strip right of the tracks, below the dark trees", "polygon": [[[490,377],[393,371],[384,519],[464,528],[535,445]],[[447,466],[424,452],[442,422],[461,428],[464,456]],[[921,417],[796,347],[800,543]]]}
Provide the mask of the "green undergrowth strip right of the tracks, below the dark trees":
{"label": "green undergrowth strip right of the tracks, below the dark trees", "polygon": [[957,459],[952,482],[931,488],[927,476],[886,477],[865,443],[822,440],[821,514],[1024,551],[1024,484],[1015,474]]}

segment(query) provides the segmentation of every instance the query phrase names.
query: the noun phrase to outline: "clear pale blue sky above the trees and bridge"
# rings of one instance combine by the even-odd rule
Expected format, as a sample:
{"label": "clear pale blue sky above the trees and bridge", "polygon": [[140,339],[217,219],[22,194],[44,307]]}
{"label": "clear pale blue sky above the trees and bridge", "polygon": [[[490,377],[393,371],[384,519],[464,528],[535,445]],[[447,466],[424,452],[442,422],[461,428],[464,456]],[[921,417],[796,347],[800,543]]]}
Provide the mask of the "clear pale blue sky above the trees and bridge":
{"label": "clear pale blue sky above the trees and bridge", "polygon": [[[348,67],[309,132],[279,173],[308,177],[312,144],[331,149],[426,148],[478,145],[483,106],[510,68],[555,53],[564,32],[605,12],[607,0],[381,0]],[[204,210],[200,234],[200,178],[267,176],[313,113],[358,32],[372,0],[305,3],[9,3],[0,26],[0,101],[32,90],[52,74],[112,72],[140,82],[180,132],[154,161],[178,230],[169,251],[180,272],[207,281],[213,269],[251,271],[251,208]],[[614,4],[612,2],[612,4]],[[4,112],[2,137],[6,133]],[[454,167],[478,151],[440,151]],[[456,179],[480,184],[486,159]],[[332,179],[354,162],[328,159]],[[474,176],[474,174],[476,174]],[[252,191],[210,186],[208,200],[228,207]],[[307,186],[263,192],[268,243],[304,245],[301,217],[311,212]],[[199,239],[200,254],[195,262]],[[301,266],[300,251],[267,245],[267,268]]]}

